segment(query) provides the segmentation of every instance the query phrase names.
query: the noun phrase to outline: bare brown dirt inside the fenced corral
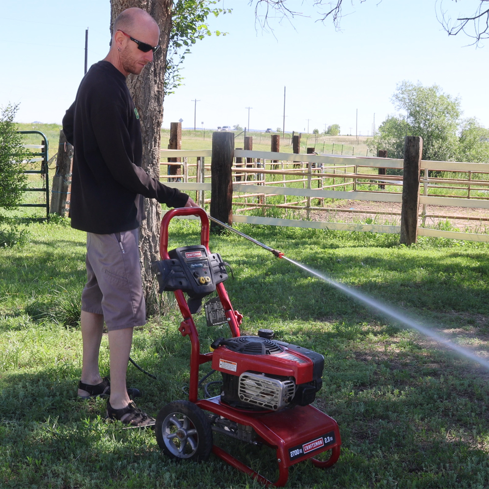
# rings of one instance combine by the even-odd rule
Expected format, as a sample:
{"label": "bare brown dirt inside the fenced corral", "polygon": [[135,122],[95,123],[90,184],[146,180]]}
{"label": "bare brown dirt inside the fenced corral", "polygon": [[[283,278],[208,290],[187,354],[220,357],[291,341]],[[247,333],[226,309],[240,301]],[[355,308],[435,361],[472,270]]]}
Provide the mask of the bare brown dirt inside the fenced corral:
{"label": "bare brown dirt inside the fenced corral", "polygon": [[[422,214],[422,209],[423,206],[420,204],[420,214]],[[311,219],[313,221],[324,222],[371,223],[399,226],[400,210],[401,204],[398,202],[339,200],[338,203],[329,203],[324,211],[311,211]],[[486,209],[426,205],[426,214],[427,217],[425,218],[424,225],[430,228],[440,228],[446,231],[458,230],[467,233],[486,234],[489,232],[489,212]],[[449,222],[448,225],[446,221]],[[422,218],[420,217],[419,225],[421,224]]]}

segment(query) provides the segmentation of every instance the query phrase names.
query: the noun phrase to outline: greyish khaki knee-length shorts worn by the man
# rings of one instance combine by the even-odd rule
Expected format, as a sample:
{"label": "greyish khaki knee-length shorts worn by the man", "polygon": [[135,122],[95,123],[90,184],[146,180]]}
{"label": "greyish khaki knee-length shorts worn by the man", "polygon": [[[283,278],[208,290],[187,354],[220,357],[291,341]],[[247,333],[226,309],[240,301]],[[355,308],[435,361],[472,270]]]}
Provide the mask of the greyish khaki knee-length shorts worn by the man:
{"label": "greyish khaki knee-length shorts worn by the man", "polygon": [[145,324],[138,229],[87,233],[86,264],[82,311],[103,314],[109,331]]}

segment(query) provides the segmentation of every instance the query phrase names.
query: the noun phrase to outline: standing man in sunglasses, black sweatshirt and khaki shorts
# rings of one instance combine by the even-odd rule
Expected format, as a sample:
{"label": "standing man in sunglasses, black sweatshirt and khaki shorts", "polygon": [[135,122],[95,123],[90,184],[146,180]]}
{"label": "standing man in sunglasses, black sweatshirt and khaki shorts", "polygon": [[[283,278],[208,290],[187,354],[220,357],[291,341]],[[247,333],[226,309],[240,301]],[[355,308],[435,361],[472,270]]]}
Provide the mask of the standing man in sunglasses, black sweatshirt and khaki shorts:
{"label": "standing man in sunglasses, black sweatshirt and khaki shorts", "polygon": [[[67,140],[74,146],[71,226],[87,231],[78,396],[110,392],[108,417],[133,426],[155,422],[136,407],[126,389],[133,327],[146,322],[137,236],[145,218],[143,196],[172,207],[197,206],[141,168],[140,114],[126,77],[138,75],[153,60],[158,41],[158,25],[148,13],[139,8],[124,10],[114,22],[109,54],[90,67],[63,119]],[[109,331],[110,380],[102,380],[98,367],[104,320]]]}

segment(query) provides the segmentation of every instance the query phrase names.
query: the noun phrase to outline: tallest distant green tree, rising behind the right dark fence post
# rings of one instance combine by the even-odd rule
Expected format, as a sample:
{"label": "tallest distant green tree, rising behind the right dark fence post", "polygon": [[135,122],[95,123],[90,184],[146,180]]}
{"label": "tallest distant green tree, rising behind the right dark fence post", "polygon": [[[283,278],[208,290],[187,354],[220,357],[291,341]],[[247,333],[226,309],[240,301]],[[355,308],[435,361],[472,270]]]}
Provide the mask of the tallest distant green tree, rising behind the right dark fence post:
{"label": "tallest distant green tree, rising behind the right dark fence post", "polygon": [[438,85],[423,87],[403,81],[392,96],[397,109],[407,113],[411,134],[423,138],[425,160],[455,159],[460,99],[442,92]]}

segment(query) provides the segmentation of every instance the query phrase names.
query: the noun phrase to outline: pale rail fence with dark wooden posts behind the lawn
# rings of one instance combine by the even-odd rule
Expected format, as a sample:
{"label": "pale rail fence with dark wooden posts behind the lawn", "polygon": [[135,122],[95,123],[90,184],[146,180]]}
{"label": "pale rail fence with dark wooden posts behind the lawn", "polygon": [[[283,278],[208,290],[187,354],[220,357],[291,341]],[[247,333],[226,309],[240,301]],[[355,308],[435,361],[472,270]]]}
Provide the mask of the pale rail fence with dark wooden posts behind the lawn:
{"label": "pale rail fence with dark wooden posts behind the lawn", "polygon": [[[200,205],[210,203],[212,199],[222,200],[223,193],[227,191],[221,182],[218,189],[212,191],[211,195],[212,179],[219,178],[215,176],[215,172],[213,173],[213,167],[222,154],[223,138],[227,138],[225,142],[231,144],[231,138],[234,135],[233,133],[215,133],[214,135],[217,137],[213,137],[212,150],[161,151],[161,156],[164,158],[164,161],[161,161],[162,165],[178,165],[183,168],[183,172],[177,179],[173,175],[166,175],[169,172],[162,171],[160,178],[166,180],[165,183],[169,186],[178,187],[187,193],[195,191],[196,201]],[[410,137],[420,140],[414,136]],[[232,151],[228,151],[225,157],[227,162],[223,163],[230,170],[229,178],[232,188],[230,202],[232,203],[229,205],[232,211],[231,208],[224,209],[218,216],[215,215],[215,212],[213,213],[211,204],[211,215],[215,215],[218,219],[224,216],[221,219],[223,221],[401,233],[401,242],[406,244],[415,242],[417,236],[489,241],[487,234],[428,229],[419,225],[419,218],[423,224],[427,217],[433,216],[426,212],[427,205],[488,209],[489,179],[486,180],[484,177],[489,175],[489,164],[424,161],[419,158],[419,154],[414,154],[413,161],[409,162],[380,157],[250,151],[234,149],[234,139],[232,145]],[[181,158],[181,162],[168,162],[167,158]],[[221,164],[217,175],[222,174],[222,168]],[[382,169],[387,169],[387,175],[383,174]],[[411,176],[406,177],[409,169],[411,169]],[[389,173],[398,174],[389,175]],[[447,177],[448,173],[455,174],[455,177]],[[409,187],[406,181],[412,182],[410,194],[406,193]],[[447,195],[441,195],[447,192]],[[403,193],[405,194],[404,199]],[[282,201],[277,203],[279,198]],[[335,199],[398,202],[402,205],[401,211],[388,214],[400,216],[401,225],[310,221],[311,211],[331,209],[331,207],[325,207],[326,199],[332,199],[333,202]],[[222,207],[221,204],[220,207]],[[409,207],[411,207],[410,211]],[[304,214],[304,218],[283,219],[256,215],[260,209],[264,211],[271,208],[288,209],[297,213],[300,211]],[[420,209],[422,209],[421,212]],[[244,211],[252,211],[255,215],[244,215]],[[348,211],[349,209],[341,209],[341,212]],[[375,213],[381,214],[376,211]],[[228,214],[229,219],[226,217]],[[408,224],[410,236],[403,237],[401,227],[407,215],[411,220],[411,223]],[[449,213],[439,213],[437,217],[465,218]],[[473,219],[489,221],[487,217]]]}

